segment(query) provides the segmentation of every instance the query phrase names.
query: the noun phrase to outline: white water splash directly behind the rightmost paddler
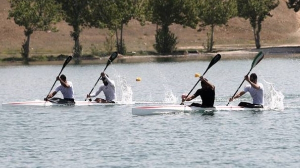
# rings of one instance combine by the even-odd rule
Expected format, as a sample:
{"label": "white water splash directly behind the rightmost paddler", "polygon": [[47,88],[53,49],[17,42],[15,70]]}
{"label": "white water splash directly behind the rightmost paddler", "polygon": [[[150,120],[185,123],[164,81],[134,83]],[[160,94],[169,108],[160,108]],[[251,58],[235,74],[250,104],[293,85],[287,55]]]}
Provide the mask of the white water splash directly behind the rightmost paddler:
{"label": "white water splash directly behind the rightmost paddler", "polygon": [[267,109],[270,110],[284,110],[283,99],[284,95],[277,91],[273,84],[264,81],[267,85],[268,92],[265,94],[265,99],[267,102]]}

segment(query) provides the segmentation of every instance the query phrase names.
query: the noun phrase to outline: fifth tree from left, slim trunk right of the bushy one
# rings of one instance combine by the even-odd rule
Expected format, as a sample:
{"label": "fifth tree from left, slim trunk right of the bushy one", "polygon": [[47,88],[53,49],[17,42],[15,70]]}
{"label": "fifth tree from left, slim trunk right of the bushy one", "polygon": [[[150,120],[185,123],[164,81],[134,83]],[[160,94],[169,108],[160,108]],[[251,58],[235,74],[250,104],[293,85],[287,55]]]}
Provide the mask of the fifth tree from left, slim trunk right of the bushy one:
{"label": "fifth tree from left, slim trunk right of the bushy one", "polygon": [[235,16],[235,3],[233,0],[201,0],[200,3],[200,29],[205,30],[210,27],[210,33],[207,37],[207,51],[211,52],[213,48],[213,34],[215,26],[226,25],[228,20]]}

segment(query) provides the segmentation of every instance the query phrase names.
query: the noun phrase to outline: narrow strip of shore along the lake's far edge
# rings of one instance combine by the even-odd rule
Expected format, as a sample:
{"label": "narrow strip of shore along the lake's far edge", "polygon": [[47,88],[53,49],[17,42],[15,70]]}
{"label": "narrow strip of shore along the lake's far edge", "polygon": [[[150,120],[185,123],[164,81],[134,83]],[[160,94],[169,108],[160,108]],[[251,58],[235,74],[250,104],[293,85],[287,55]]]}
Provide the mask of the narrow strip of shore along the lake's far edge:
{"label": "narrow strip of shore along the lake's far edge", "polygon": [[[300,57],[300,46],[270,46],[260,49],[237,49],[237,50],[220,50],[213,53],[185,53],[184,55],[146,55],[146,56],[124,56],[119,54],[114,63],[143,63],[143,62],[183,62],[183,61],[198,61],[211,60],[217,53],[221,54],[222,59],[243,59],[253,58],[258,52],[262,51],[265,58],[285,58]],[[101,57],[96,59],[84,59],[81,64],[106,64],[108,57]],[[60,65],[63,61],[33,61],[30,65]],[[69,64],[74,64],[71,61]],[[21,61],[0,62],[0,66],[22,65]]]}

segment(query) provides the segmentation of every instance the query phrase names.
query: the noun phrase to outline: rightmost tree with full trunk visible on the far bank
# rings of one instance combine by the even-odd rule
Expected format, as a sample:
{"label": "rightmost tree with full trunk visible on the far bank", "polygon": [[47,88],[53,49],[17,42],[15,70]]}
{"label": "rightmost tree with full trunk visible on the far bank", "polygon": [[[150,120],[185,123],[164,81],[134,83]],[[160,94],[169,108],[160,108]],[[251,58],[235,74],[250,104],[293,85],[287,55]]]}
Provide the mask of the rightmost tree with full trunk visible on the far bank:
{"label": "rightmost tree with full trunk visible on the far bank", "polygon": [[238,16],[250,20],[253,28],[255,46],[260,48],[261,23],[272,15],[270,11],[279,5],[279,0],[237,0]]}

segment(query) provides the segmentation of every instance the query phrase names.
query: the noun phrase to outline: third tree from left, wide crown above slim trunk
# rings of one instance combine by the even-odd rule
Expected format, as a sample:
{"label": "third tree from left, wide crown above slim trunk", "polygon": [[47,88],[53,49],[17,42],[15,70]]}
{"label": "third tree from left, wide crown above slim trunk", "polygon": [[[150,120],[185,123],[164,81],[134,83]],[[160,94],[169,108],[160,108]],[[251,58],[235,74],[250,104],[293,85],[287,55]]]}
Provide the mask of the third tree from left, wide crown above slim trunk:
{"label": "third tree from left, wide crown above slim trunk", "polygon": [[123,28],[131,19],[139,15],[140,7],[143,6],[142,3],[143,0],[92,0],[90,25],[98,28],[107,27],[114,31],[117,51],[125,54]]}

